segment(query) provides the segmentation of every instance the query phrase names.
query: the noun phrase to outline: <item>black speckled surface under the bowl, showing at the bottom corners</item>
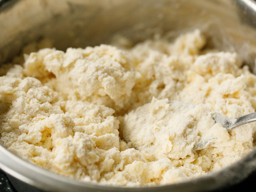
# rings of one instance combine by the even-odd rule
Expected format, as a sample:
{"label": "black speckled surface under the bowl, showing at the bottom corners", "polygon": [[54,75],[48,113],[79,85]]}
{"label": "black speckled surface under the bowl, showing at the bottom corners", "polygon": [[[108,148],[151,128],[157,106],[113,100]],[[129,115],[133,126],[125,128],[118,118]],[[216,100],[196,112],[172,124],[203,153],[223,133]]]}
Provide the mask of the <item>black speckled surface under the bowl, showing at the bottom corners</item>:
{"label": "black speckled surface under the bowl, showing at the bottom corners", "polygon": [[[248,190],[248,191],[255,191],[255,183],[256,183],[256,172],[250,175],[247,179],[245,179],[242,183],[234,185],[232,187],[226,189],[220,189],[214,192],[227,192],[227,191],[236,191],[236,190]],[[251,190],[250,190],[251,189]],[[253,190],[254,189],[254,190]],[[10,183],[9,179],[6,177],[4,172],[0,169],[0,192],[19,192],[18,189],[16,190],[12,184]],[[28,191],[29,192],[29,191]]]}

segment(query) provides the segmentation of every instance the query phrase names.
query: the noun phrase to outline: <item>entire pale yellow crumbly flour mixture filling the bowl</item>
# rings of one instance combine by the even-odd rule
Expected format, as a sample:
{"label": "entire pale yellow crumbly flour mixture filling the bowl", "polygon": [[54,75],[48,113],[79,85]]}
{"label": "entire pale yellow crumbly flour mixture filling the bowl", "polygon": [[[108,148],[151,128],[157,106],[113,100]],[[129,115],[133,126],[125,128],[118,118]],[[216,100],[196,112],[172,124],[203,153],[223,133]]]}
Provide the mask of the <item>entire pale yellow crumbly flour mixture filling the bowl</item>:
{"label": "entire pale yellow crumbly flour mixture filling the bowl", "polygon": [[[202,49],[199,30],[131,49],[40,49],[0,72],[0,142],[54,173],[118,186],[171,184],[254,148],[256,76],[236,53]],[[179,102],[182,101],[182,102]],[[201,150],[198,142],[212,139]]]}

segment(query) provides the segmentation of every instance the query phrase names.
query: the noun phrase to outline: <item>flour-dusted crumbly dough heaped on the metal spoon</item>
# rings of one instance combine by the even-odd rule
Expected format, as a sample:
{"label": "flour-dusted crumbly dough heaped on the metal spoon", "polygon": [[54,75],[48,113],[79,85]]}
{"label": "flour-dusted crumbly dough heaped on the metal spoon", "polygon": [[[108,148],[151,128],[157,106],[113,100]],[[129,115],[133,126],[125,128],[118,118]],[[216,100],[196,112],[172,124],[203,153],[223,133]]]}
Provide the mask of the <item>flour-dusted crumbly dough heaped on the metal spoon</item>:
{"label": "flour-dusted crumbly dough heaped on the metal spoon", "polygon": [[203,104],[153,98],[124,116],[121,131],[124,139],[149,160],[185,159],[194,156],[193,148],[199,142],[229,139],[227,130],[215,123],[212,114]]}

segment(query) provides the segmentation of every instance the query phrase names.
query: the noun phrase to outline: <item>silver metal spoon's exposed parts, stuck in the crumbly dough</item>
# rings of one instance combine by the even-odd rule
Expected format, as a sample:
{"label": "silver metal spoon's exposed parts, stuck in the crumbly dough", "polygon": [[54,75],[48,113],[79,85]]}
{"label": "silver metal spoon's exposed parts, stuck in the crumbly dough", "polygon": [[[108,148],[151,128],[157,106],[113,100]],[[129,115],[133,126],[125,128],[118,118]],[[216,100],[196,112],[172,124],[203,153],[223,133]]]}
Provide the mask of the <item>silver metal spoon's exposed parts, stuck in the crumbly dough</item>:
{"label": "silver metal spoon's exposed parts, stuck in the crumbly dough", "polygon": [[[212,117],[215,123],[220,123],[224,128],[230,131],[231,129],[238,127],[240,125],[243,125],[245,123],[256,121],[256,112],[250,113],[241,117],[237,117],[237,118],[227,118],[224,115],[221,115],[219,113],[213,113]],[[199,141],[197,145],[195,145],[192,148],[192,151],[204,149],[206,146],[210,145],[211,143],[212,143],[211,140]]]}

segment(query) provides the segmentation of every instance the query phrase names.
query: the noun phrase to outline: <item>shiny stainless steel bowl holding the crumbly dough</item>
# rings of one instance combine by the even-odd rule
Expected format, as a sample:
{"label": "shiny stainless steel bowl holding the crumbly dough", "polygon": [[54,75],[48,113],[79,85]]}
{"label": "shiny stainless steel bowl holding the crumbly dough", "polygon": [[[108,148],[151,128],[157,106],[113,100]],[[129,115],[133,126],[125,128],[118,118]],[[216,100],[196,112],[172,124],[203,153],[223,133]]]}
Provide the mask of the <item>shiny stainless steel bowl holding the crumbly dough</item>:
{"label": "shiny stainless steel bowl holding the crumbly dough", "polygon": [[[170,41],[200,28],[208,47],[236,51],[256,72],[254,0],[0,0],[0,63],[32,41],[57,49],[108,43],[117,35],[134,44],[159,34]],[[211,191],[256,171],[256,150],[239,162],[198,179],[158,187],[109,187],[73,180],[32,165],[0,145],[0,168],[20,191]]]}

